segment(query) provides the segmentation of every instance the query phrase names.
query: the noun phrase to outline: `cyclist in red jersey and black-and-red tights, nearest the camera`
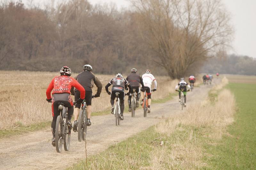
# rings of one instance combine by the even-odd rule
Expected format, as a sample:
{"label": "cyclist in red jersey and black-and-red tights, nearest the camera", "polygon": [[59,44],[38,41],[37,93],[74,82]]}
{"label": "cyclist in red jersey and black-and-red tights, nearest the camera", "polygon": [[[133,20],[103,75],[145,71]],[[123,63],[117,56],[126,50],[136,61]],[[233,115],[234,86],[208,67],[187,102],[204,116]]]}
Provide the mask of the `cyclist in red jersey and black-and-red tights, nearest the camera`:
{"label": "cyclist in red jersey and black-and-red tights, nearest the camera", "polygon": [[[85,90],[74,78],[70,77],[72,74],[71,69],[64,66],[60,69],[60,76],[56,76],[52,79],[46,90],[46,100],[48,102],[52,101],[52,145],[55,146],[55,127],[57,117],[60,115],[58,110],[58,103],[63,103],[65,107],[68,108],[68,130],[72,129],[72,124],[70,122],[73,115],[73,101],[70,96],[71,87],[75,87],[81,92],[81,97],[77,100],[77,103],[81,103],[84,100]],[[51,97],[51,91],[52,97]]]}

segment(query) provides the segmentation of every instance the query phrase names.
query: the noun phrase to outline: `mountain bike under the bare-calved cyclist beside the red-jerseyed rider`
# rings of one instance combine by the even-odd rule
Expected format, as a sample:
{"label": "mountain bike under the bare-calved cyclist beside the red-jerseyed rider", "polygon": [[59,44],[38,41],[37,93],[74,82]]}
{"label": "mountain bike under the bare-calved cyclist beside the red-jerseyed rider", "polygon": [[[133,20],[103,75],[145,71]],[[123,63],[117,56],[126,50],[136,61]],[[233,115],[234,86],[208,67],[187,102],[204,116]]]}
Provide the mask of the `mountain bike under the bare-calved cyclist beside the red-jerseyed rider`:
{"label": "mountain bike under the bare-calved cyclist beside the red-jerseyed rider", "polygon": [[[94,96],[92,96],[92,98],[94,98]],[[74,105],[76,105],[76,102],[74,102]],[[82,107],[77,122],[78,141],[81,142],[82,140],[85,140],[87,133],[87,112],[85,100],[82,102]]]}

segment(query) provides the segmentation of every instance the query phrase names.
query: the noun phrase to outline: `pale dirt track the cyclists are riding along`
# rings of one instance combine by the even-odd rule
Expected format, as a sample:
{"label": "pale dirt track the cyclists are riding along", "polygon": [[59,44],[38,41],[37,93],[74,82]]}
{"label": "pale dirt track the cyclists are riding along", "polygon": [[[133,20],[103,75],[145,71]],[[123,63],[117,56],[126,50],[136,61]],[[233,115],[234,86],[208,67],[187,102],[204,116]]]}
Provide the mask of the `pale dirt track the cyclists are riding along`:
{"label": "pale dirt track the cyclists are riding along", "polygon": [[[190,104],[201,102],[212,85],[195,88],[188,92],[188,109]],[[143,117],[143,110],[135,112],[135,118],[130,113],[124,114],[124,121],[116,127],[113,115],[92,117],[92,126],[87,130],[87,155],[104,151],[109,145],[124,140],[148,127],[157,124],[163,117],[169,117],[174,112],[180,112],[178,97],[166,103],[152,104],[151,113]],[[118,136],[116,134],[119,134]],[[0,140],[1,169],[59,169],[73,165],[85,158],[84,142],[77,141],[77,133],[71,133],[71,145],[68,152],[62,148],[57,153],[51,145],[52,133],[47,130],[31,132],[18,137]]]}

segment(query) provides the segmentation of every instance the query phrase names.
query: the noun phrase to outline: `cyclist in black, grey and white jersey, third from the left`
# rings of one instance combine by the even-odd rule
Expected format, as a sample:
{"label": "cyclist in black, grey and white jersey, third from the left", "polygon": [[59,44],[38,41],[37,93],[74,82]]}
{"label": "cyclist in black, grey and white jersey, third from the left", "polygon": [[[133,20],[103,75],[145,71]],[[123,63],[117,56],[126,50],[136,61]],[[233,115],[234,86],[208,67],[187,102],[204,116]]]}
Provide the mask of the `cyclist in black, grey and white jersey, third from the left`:
{"label": "cyclist in black, grey and white jersey, third from the left", "polygon": [[[112,85],[111,92],[108,91],[108,87]],[[106,92],[108,95],[111,95],[110,103],[111,103],[111,114],[114,114],[114,102],[116,98],[116,93],[119,93],[119,99],[120,99],[120,120],[124,120],[124,88],[125,85],[129,87],[129,92],[127,95],[130,95],[132,92],[132,86],[129,84],[129,82],[123,77],[122,74],[118,73],[116,74],[116,77],[111,79],[108,84],[105,86]]]}

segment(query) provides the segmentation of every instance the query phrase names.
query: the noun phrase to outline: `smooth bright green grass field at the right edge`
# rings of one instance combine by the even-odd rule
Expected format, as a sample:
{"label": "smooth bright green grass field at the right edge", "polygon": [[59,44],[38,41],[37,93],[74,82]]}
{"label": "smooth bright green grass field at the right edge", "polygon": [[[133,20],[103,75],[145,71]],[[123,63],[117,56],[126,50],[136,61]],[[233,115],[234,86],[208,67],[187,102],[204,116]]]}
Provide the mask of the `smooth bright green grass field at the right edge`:
{"label": "smooth bright green grass field at the right edge", "polygon": [[217,145],[205,145],[212,154],[210,169],[256,169],[256,85],[229,83],[236,98],[235,122]]}

